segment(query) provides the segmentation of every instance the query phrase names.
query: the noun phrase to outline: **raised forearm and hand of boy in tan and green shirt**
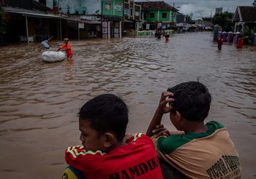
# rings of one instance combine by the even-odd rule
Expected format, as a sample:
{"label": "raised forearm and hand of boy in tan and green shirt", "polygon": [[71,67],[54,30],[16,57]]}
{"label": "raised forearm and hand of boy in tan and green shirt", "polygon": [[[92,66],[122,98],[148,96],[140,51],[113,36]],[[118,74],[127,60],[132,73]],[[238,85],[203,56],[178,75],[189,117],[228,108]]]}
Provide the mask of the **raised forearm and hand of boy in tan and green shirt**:
{"label": "raised forearm and hand of boy in tan and green shirt", "polygon": [[161,124],[162,115],[164,115],[165,113],[170,113],[170,111],[172,110],[171,105],[167,106],[167,103],[174,101],[173,98],[170,98],[172,96],[173,96],[173,93],[171,92],[162,92],[162,95],[159,101],[159,106],[157,107],[157,110],[155,111],[154,116],[151,120],[151,123],[148,126],[148,130],[146,132],[146,135],[148,135],[149,137],[154,135],[154,132],[152,131],[156,129],[157,125]]}

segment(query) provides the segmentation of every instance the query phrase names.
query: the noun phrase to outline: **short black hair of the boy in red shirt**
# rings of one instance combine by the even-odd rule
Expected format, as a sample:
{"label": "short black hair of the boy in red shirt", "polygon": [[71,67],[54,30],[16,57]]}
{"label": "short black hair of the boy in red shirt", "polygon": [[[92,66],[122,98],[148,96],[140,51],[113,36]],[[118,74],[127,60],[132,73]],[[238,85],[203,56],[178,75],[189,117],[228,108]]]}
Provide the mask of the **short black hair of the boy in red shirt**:
{"label": "short black hair of the boy in red shirt", "polygon": [[118,141],[121,141],[126,133],[128,112],[121,97],[105,94],[85,103],[78,115],[79,119],[88,120],[99,135],[114,132]]}

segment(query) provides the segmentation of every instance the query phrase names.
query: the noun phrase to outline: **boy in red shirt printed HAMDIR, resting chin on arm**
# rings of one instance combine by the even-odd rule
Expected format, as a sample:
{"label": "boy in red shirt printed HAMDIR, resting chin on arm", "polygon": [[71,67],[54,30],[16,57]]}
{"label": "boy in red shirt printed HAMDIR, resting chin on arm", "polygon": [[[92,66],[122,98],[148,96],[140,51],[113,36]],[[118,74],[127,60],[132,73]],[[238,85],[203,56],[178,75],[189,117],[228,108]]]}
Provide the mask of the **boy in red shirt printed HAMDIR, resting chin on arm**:
{"label": "boy in red shirt printed HAMDIR, resting chin on arm", "polygon": [[[121,98],[99,95],[80,108],[78,114],[82,146],[68,147],[65,159],[83,177],[162,178],[151,138],[141,133],[125,135],[128,108]],[[72,178],[67,170],[64,177]]]}

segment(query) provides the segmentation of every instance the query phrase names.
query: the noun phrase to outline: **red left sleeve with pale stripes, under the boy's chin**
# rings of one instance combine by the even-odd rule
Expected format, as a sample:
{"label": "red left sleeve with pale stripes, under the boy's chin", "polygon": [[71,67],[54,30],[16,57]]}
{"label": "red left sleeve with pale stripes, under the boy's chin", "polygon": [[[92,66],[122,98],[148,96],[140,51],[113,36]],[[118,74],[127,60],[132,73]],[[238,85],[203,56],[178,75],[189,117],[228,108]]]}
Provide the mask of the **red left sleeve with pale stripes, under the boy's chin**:
{"label": "red left sleeve with pale stripes, under the boy's chin", "polygon": [[103,155],[105,155],[105,153],[102,151],[86,151],[83,146],[68,147],[65,151],[67,164],[77,170],[83,171],[83,173],[97,170],[97,166],[102,162]]}

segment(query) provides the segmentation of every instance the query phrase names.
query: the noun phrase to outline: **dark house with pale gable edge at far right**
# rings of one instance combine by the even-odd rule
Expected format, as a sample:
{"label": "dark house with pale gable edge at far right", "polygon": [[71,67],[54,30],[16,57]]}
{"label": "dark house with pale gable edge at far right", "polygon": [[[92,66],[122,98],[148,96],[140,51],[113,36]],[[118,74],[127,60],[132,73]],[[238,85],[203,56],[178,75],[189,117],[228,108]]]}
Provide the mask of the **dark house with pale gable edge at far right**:
{"label": "dark house with pale gable edge at far right", "polygon": [[233,16],[234,32],[243,32],[247,25],[249,29],[256,28],[256,7],[237,7]]}

